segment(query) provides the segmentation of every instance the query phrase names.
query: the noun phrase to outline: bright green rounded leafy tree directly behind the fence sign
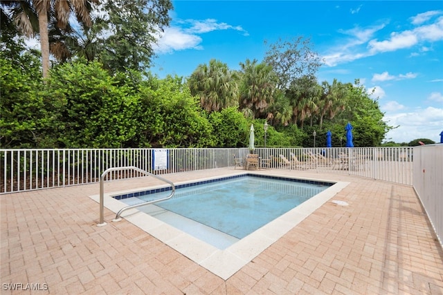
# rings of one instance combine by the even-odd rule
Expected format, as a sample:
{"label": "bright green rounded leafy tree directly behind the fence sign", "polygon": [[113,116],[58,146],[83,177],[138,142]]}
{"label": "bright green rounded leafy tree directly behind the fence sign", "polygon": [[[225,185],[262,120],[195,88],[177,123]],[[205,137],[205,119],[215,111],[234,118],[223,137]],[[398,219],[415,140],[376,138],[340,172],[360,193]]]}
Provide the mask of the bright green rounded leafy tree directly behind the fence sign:
{"label": "bright green rounded leafy tree directly behind the fence sign", "polygon": [[140,122],[137,134],[145,136],[145,142],[161,147],[213,146],[213,128],[181,79],[151,77],[140,87],[140,98],[135,117]]}

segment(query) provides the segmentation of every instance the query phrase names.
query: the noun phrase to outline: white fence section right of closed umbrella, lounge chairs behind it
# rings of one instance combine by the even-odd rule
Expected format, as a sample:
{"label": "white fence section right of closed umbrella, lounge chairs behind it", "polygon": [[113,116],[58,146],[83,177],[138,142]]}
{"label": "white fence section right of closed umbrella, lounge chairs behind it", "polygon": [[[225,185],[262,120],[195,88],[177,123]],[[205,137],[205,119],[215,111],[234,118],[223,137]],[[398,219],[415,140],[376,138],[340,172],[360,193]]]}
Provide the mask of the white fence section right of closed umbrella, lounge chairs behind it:
{"label": "white fence section right of closed umbrella, lounge chairs behind it", "polygon": [[256,151],[261,158],[271,158],[273,167],[347,173],[399,184],[413,184],[413,148],[410,147],[282,148]]}

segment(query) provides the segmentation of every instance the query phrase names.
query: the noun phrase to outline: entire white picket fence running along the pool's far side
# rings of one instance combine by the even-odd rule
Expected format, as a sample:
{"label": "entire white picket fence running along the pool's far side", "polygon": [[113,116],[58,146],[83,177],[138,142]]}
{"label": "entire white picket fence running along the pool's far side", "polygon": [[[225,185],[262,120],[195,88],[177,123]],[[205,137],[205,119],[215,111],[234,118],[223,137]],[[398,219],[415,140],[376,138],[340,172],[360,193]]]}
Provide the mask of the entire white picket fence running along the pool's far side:
{"label": "entire white picket fence running along the pool's far side", "polygon": [[[136,166],[154,174],[234,166],[248,149],[0,149],[0,193],[66,187],[100,181],[103,171]],[[413,184],[412,148],[258,148],[260,166],[347,173]],[[163,164],[158,165],[159,156]],[[156,158],[157,157],[157,158]],[[160,159],[161,160],[161,159]],[[140,177],[114,171],[105,180]]]}

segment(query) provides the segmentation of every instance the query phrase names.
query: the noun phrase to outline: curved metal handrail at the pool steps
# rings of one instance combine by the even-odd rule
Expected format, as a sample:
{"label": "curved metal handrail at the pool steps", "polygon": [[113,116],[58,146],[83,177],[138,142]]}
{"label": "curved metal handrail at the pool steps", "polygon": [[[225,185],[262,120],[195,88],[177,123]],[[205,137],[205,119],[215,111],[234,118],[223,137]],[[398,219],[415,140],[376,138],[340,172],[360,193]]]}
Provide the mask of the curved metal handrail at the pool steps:
{"label": "curved metal handrail at the pool steps", "polygon": [[168,199],[172,198],[172,196],[174,196],[174,193],[175,193],[175,185],[174,185],[174,183],[173,183],[172,181],[170,181],[170,180],[167,180],[167,179],[165,179],[165,178],[162,178],[162,177],[159,176],[159,175],[155,175],[155,174],[152,174],[152,173],[150,173],[150,172],[144,171],[144,170],[142,170],[142,169],[137,168],[136,166],[125,166],[125,167],[113,167],[113,168],[109,168],[109,169],[105,170],[105,171],[102,173],[102,175],[100,175],[100,222],[98,223],[98,226],[99,226],[99,227],[101,227],[101,226],[103,226],[103,225],[106,225],[105,217],[104,217],[104,214],[103,214],[103,211],[104,211],[104,209],[105,209],[105,205],[104,205],[104,185],[103,185],[103,182],[105,181],[105,176],[106,176],[109,172],[112,172],[112,171],[121,171],[121,170],[133,170],[133,171],[138,171],[139,173],[143,173],[143,174],[145,174],[145,175],[149,175],[149,176],[152,176],[152,177],[157,178],[157,179],[159,179],[159,180],[162,180],[163,182],[167,182],[168,184],[171,185],[171,187],[172,187],[172,192],[171,192],[170,195],[169,195],[168,197],[166,197],[166,198],[161,198],[161,199],[159,199],[159,200],[152,200],[152,201],[144,202],[144,203],[141,203],[141,204],[134,204],[134,205],[131,205],[131,206],[123,207],[122,209],[120,209],[120,211],[118,211],[118,213],[117,213],[117,215],[116,215],[116,218],[114,218],[114,220],[112,220],[113,222],[120,221],[120,220],[121,220],[121,218],[120,218],[121,213],[123,213],[123,212],[126,211],[126,210],[133,209],[133,208],[136,208],[136,207],[145,206],[145,205],[152,204],[152,203],[155,203],[155,202],[165,201],[165,200],[168,200]]}

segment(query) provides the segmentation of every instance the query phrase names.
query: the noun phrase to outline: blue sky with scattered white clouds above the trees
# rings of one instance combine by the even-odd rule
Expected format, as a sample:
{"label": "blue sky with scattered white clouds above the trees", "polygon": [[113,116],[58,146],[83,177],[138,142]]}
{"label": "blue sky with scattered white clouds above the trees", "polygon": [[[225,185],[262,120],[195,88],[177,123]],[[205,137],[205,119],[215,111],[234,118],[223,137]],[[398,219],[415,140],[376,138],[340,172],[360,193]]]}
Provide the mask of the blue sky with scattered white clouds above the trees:
{"label": "blue sky with scattered white clouds above the trees", "polygon": [[[399,128],[386,140],[440,142],[443,1],[172,1],[152,73],[188,77],[218,59],[262,61],[278,39],[311,39],[325,59],[318,82],[360,79]],[[344,126],[343,126],[344,128]]]}

